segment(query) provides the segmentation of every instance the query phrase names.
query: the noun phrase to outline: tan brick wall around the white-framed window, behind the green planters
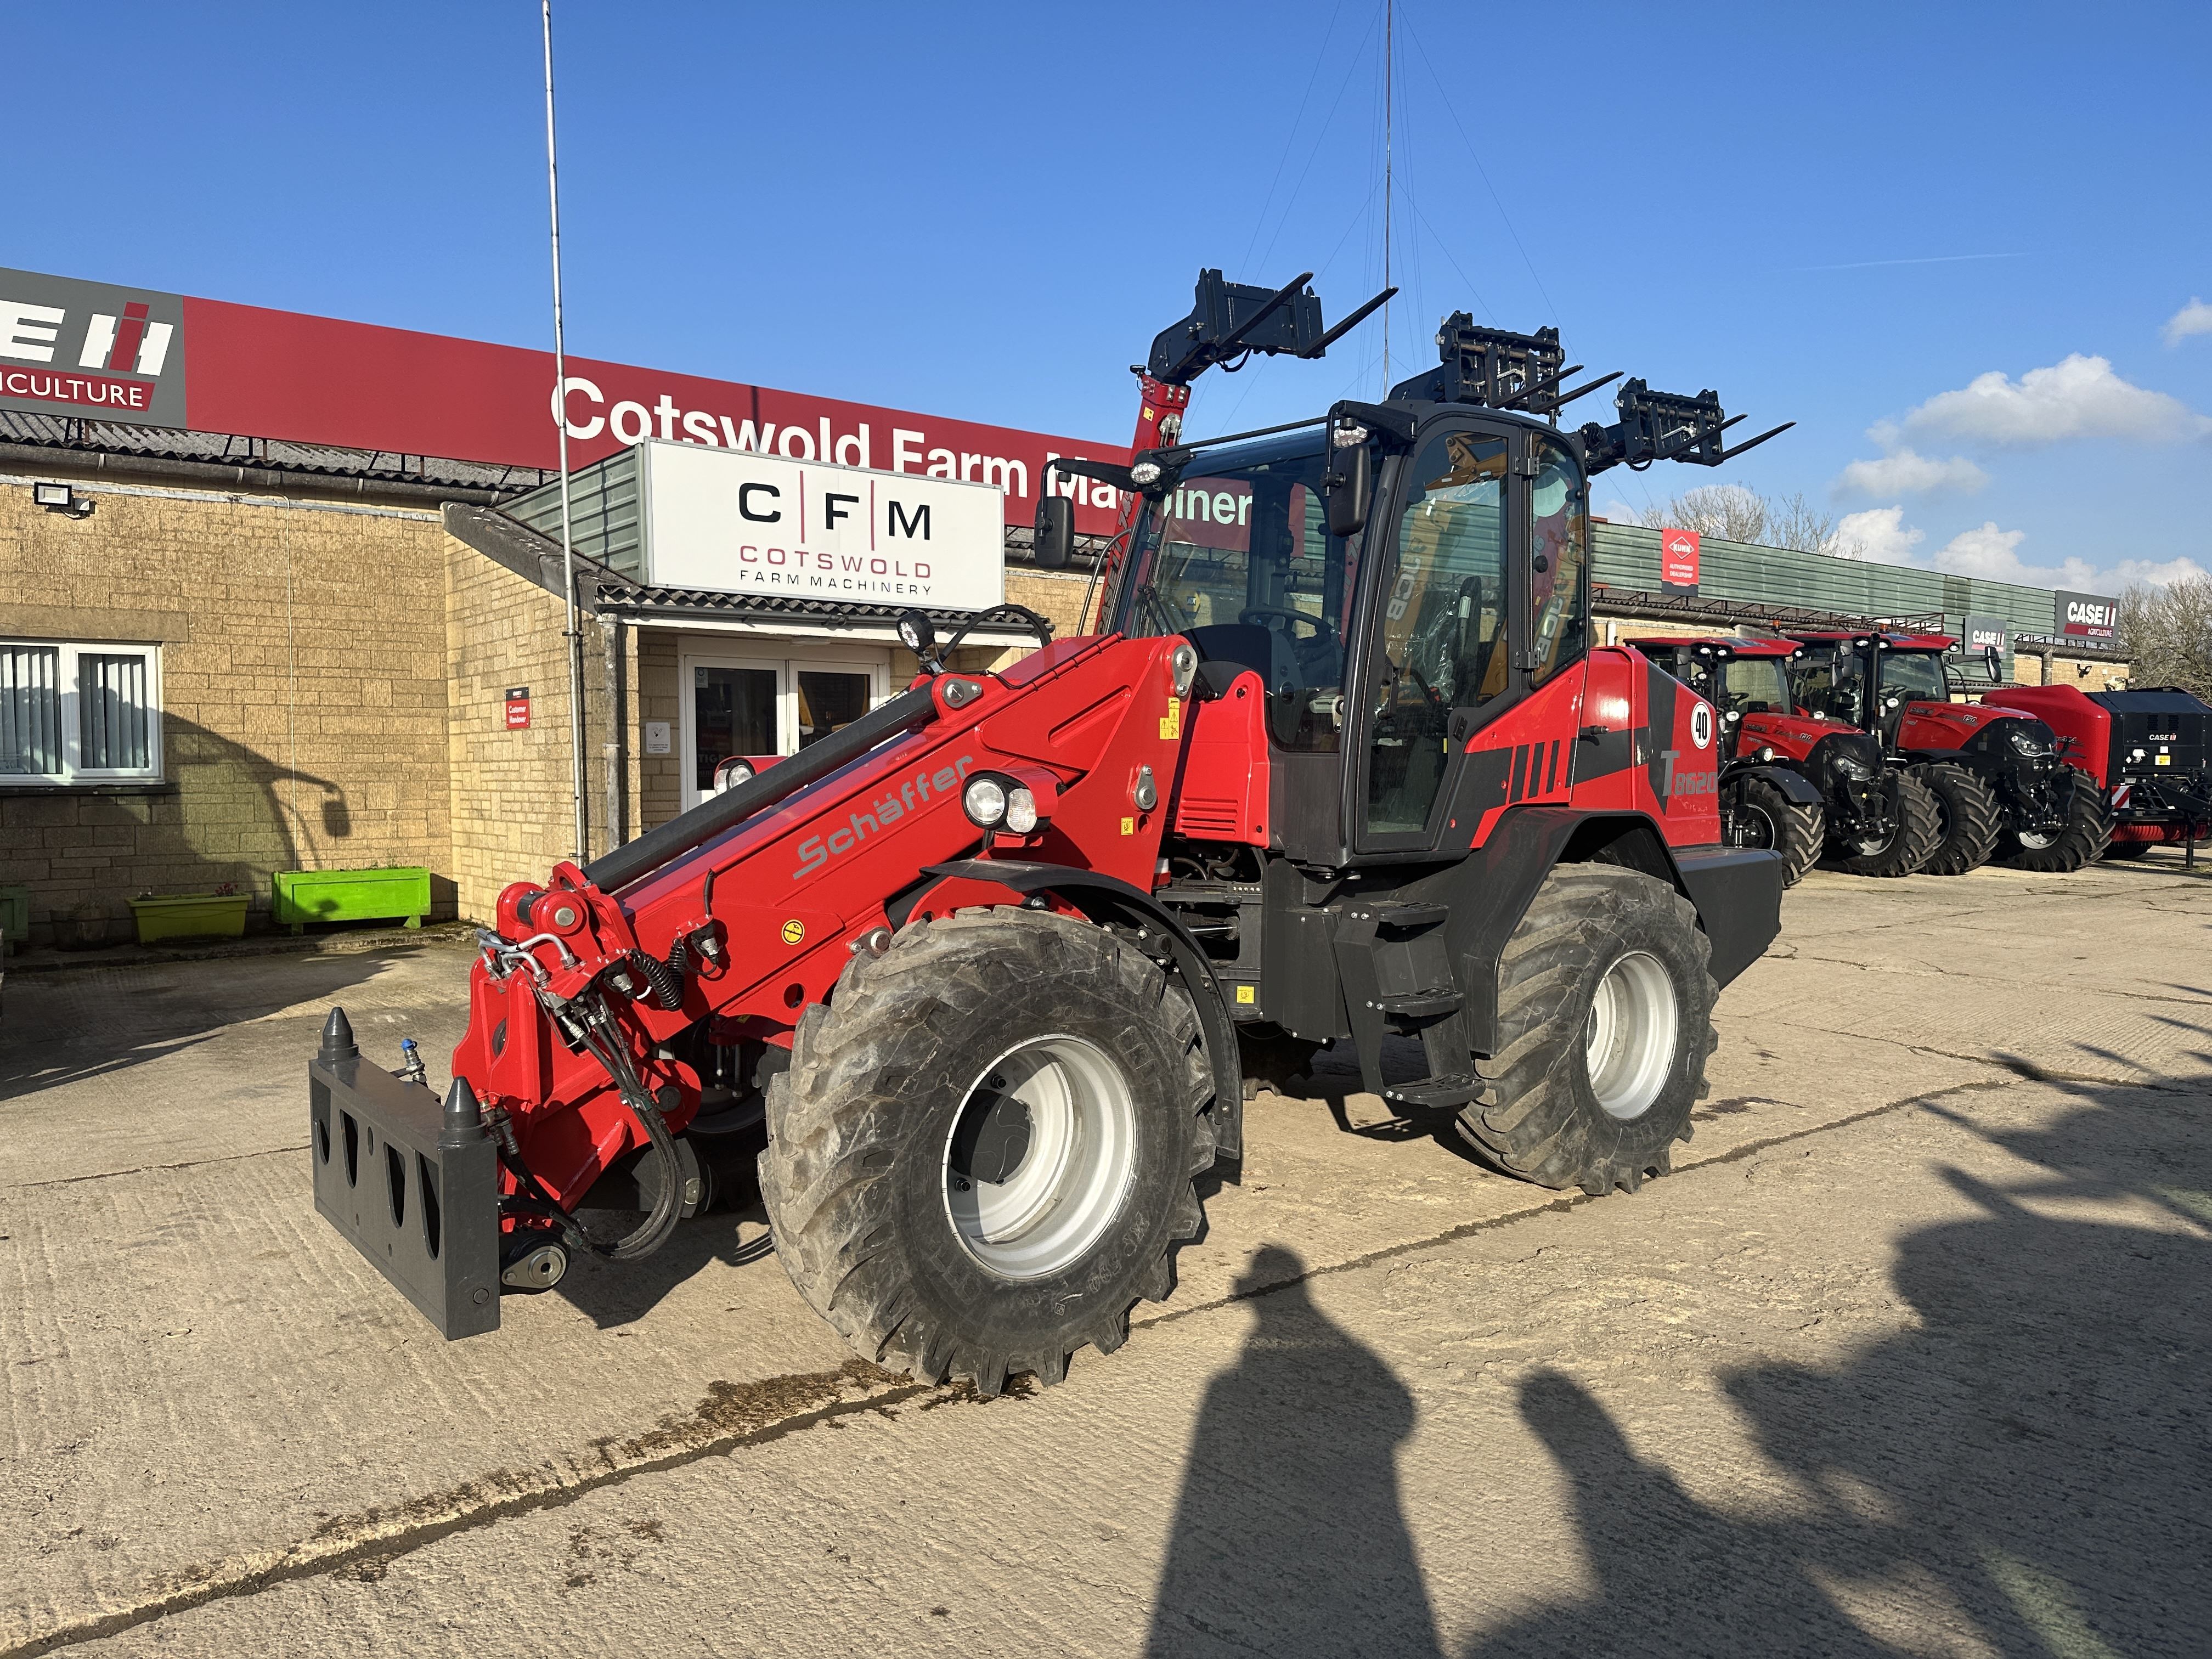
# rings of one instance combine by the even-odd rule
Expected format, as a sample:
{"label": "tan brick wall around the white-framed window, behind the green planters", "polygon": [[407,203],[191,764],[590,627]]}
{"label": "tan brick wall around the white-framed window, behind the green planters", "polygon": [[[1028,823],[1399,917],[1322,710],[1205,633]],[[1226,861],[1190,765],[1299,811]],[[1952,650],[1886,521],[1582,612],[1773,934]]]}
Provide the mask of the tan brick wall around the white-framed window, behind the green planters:
{"label": "tan brick wall around the white-framed window, behind the green planters", "polygon": [[[66,478],[66,469],[42,473]],[[137,894],[279,869],[445,872],[436,513],[84,480],[88,518],[0,484],[0,633],[161,646],[164,781],[0,787],[0,885],[33,942],[126,938]],[[451,887],[434,889],[451,914]]]}

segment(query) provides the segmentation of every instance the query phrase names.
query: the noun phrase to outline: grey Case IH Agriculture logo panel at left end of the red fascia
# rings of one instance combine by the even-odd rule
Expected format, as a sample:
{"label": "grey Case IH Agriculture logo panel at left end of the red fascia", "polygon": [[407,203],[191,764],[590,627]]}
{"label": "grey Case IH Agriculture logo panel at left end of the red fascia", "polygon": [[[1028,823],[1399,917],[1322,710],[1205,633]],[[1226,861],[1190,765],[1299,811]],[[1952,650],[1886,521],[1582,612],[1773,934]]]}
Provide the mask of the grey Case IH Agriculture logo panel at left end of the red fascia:
{"label": "grey Case IH Agriculture logo panel at left end of the red fascia", "polygon": [[184,299],[0,270],[0,409],[186,425]]}

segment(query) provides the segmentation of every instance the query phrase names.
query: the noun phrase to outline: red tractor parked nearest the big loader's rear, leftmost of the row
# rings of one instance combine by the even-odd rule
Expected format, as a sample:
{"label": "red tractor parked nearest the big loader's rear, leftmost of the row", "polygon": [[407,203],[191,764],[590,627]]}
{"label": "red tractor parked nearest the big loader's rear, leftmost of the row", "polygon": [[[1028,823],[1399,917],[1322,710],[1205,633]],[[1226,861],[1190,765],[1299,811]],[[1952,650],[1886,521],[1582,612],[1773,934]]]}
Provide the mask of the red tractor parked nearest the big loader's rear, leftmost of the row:
{"label": "red tractor parked nearest the big loader's rear, leftmost of the row", "polygon": [[1721,827],[1732,847],[1772,847],[1792,885],[1825,847],[1858,876],[1909,876],[1936,849],[1936,801],[1882,763],[1856,726],[1798,708],[1792,639],[1630,639],[1721,710]]}

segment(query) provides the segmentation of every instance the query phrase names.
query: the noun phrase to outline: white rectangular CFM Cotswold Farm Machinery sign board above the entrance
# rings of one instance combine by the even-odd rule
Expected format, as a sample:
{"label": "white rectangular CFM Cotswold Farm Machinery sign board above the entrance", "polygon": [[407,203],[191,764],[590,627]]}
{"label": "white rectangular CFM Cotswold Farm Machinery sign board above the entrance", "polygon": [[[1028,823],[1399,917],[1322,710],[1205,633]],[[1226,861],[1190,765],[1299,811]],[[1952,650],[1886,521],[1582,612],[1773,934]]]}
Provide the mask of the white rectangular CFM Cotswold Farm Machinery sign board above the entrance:
{"label": "white rectangular CFM Cotswold Farm Machinery sign board above the entrance", "polygon": [[1006,602],[993,484],[659,440],[637,453],[648,586],[925,611]]}

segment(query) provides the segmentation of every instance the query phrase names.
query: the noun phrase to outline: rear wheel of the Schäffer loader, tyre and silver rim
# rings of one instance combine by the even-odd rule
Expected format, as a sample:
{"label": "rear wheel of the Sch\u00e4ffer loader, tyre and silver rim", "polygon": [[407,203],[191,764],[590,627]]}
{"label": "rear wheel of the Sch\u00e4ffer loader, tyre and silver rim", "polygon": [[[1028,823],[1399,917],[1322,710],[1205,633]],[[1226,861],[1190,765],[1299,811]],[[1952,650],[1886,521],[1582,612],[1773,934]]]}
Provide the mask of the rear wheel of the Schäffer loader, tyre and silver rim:
{"label": "rear wheel of the Sch\u00e4ffer loader, tyre and silver rim", "polygon": [[1666,1175],[1719,1037],[1697,911],[1619,865],[1559,865],[1500,960],[1493,1104],[1460,1135],[1509,1175],[1604,1197]]}

